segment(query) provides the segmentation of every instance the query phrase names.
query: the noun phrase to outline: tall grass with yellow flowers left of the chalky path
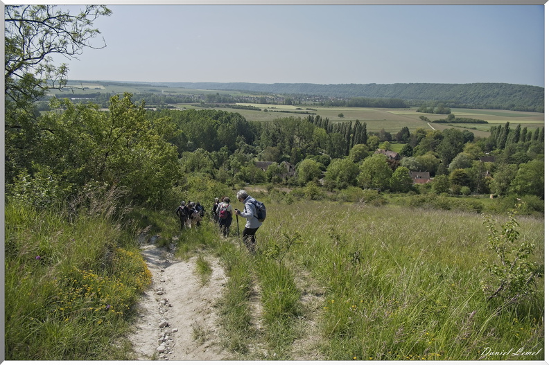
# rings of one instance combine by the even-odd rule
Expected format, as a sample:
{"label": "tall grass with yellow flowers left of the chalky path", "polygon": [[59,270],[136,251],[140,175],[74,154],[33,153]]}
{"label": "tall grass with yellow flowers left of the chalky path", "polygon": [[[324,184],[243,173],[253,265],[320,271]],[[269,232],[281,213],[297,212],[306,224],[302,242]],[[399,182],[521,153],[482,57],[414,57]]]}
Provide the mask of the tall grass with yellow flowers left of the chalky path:
{"label": "tall grass with yellow flowers left of the chalky path", "polygon": [[130,359],[150,283],[134,235],[101,214],[6,206],[6,359]]}

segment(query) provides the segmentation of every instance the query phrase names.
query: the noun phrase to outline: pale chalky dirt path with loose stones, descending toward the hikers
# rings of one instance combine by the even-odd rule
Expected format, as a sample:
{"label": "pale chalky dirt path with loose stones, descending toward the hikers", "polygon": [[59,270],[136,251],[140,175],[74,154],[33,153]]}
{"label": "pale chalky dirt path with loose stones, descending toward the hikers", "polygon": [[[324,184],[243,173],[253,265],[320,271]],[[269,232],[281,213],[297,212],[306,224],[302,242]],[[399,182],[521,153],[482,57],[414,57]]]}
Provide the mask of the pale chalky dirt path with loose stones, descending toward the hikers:
{"label": "pale chalky dirt path with loose stones, descending toward the hikers", "polygon": [[156,247],[154,241],[141,242],[153,285],[143,294],[130,336],[137,359],[228,359],[229,353],[218,344],[214,311],[226,279],[218,260],[207,258],[213,272],[202,285],[195,274],[196,258],[177,260],[175,247]]}

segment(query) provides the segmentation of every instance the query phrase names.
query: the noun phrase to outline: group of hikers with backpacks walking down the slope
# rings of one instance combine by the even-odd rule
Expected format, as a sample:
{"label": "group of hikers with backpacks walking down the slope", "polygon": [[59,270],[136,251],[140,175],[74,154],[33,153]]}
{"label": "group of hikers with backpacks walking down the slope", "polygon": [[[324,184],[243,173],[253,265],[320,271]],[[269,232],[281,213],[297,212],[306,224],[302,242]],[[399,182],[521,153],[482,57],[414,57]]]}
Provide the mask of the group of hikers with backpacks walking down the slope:
{"label": "group of hikers with backpacks walking down the slope", "polygon": [[[237,228],[238,216],[245,218],[246,224],[242,231],[242,238],[246,248],[251,253],[255,253],[255,233],[265,219],[265,206],[248,195],[245,190],[238,190],[236,199],[238,199],[238,202],[244,204],[243,211],[234,209],[229,197],[222,197],[221,199],[216,197],[214,206],[211,208],[212,220],[218,225],[223,237],[227,238],[233,221],[233,215],[236,215]],[[177,208],[175,214],[180,217],[181,229],[191,228],[193,226],[200,226],[200,220],[204,217],[204,208],[198,202],[189,202],[189,204],[186,205],[185,202],[181,202],[181,205]],[[238,230],[240,231],[239,228]],[[240,232],[238,232],[238,234],[240,234]]]}

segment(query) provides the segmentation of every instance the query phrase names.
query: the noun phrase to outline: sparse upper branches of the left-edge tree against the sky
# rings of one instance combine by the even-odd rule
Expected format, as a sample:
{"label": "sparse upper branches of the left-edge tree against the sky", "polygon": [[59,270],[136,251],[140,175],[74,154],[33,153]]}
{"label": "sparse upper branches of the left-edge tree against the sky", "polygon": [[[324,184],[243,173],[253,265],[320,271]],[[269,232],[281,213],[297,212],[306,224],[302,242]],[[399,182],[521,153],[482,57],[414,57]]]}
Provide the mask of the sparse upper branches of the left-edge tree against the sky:
{"label": "sparse upper branches of the left-edge tree against the sky", "polygon": [[[78,15],[54,5],[4,7],[4,88],[6,100],[27,107],[49,88],[67,84],[67,65],[52,64],[53,55],[76,58],[100,32],[93,22],[111,11],[105,6],[85,6]],[[48,84],[51,82],[51,84]]]}

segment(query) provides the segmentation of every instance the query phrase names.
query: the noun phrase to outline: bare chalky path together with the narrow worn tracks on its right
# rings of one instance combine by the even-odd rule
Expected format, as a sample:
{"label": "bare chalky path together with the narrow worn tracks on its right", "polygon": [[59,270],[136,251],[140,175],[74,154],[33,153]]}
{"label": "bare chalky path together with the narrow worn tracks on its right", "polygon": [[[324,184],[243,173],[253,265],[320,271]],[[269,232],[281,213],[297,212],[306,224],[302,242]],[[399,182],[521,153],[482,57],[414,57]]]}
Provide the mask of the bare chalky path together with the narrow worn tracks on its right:
{"label": "bare chalky path together with the narrow worn tracks on its right", "polygon": [[[137,359],[218,361],[241,357],[225,350],[220,344],[220,328],[214,305],[223,295],[227,277],[218,258],[204,257],[212,269],[209,281],[204,284],[195,272],[197,258],[176,259],[173,244],[169,249],[156,247],[153,236],[148,242],[141,240],[141,249],[153,274],[153,284],[143,293],[137,308],[138,319],[130,335]],[[302,304],[308,308],[308,315],[299,319],[302,336],[290,350],[293,359],[320,358],[315,350],[318,329],[313,313],[317,312],[322,295],[315,294],[304,292],[302,295]],[[248,305],[256,338],[248,345],[248,353],[242,357],[268,359],[272,354],[269,354],[267,344],[261,341],[265,328],[261,288],[256,281]]]}

